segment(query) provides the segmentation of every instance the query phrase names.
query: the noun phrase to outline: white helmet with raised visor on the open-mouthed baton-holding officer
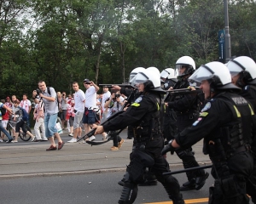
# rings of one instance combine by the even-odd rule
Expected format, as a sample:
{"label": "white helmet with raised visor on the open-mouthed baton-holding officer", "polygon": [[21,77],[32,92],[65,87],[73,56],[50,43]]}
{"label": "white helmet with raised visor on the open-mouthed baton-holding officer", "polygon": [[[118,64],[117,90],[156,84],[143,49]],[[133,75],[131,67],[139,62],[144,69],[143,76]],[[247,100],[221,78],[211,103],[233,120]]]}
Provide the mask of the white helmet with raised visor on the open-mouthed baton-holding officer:
{"label": "white helmet with raised visor on the open-mouthed baton-holding officer", "polygon": [[198,70],[189,77],[189,82],[201,82],[203,80],[207,80],[211,83],[212,92],[217,89],[240,89],[232,84],[228,67],[218,61],[201,65]]}

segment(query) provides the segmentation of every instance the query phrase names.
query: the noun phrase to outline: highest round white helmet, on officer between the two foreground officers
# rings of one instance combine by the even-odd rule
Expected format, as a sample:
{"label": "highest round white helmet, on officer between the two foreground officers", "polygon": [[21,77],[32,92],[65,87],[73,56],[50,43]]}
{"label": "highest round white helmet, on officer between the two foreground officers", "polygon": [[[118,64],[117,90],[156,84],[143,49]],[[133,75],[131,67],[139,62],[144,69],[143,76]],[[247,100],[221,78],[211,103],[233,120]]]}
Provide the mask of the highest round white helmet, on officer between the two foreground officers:
{"label": "highest round white helmet, on officer between the two foreground officers", "polygon": [[[182,67],[185,67],[186,70],[182,74],[179,74],[178,70],[181,69]],[[177,62],[175,64],[175,72],[177,76],[184,77],[184,76],[192,75],[194,71],[195,71],[194,59],[192,59],[189,56],[183,56],[177,59]]]}

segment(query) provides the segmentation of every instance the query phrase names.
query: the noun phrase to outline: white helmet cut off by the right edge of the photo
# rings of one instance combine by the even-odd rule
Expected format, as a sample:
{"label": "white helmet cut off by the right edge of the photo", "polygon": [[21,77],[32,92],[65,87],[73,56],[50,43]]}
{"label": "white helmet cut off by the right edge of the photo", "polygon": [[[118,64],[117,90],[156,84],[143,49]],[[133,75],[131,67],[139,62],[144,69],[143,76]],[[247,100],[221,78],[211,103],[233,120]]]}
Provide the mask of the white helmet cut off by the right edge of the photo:
{"label": "white helmet cut off by the right edge of the photo", "polygon": [[240,56],[235,59],[231,59],[227,67],[229,68],[232,77],[240,74],[241,80],[244,83],[256,83],[256,64],[253,59],[247,56]]}

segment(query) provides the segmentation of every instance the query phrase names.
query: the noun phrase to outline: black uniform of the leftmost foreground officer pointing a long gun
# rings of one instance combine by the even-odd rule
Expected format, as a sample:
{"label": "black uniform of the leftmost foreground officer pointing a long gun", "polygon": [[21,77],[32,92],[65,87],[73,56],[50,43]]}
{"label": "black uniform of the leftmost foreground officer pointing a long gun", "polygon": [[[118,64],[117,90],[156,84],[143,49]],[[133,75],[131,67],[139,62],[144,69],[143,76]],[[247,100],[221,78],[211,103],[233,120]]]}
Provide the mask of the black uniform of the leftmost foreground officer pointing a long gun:
{"label": "black uniform of the leftmost foreground officer pointing a long gun", "polygon": [[151,167],[156,178],[162,183],[174,204],[183,203],[179,192],[179,184],[169,172],[166,159],[161,156],[163,138],[160,133],[160,94],[146,92],[140,95],[123,114],[107,124],[104,130],[110,131],[133,127],[136,143],[133,146],[131,162],[125,174],[125,184],[119,203],[133,203],[137,197],[137,184],[143,180],[146,167]]}

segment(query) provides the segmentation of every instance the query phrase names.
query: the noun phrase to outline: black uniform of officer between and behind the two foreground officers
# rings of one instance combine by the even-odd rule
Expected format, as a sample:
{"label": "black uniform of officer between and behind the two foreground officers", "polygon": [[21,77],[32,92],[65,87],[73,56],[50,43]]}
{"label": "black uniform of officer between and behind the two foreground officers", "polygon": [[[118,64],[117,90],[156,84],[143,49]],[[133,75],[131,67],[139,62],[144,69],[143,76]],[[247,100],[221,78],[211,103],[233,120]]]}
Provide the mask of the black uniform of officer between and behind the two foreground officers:
{"label": "black uniform of officer between and behind the two foreground officers", "polygon": [[[175,89],[188,87],[189,82],[185,78],[178,81],[175,85]],[[168,108],[176,111],[177,132],[180,133],[184,128],[190,127],[197,119],[201,109],[201,101],[198,95],[195,94],[180,95],[168,102]],[[186,149],[176,150],[176,154],[183,161],[184,168],[199,167],[199,164],[195,161],[195,153],[191,146]],[[209,175],[204,170],[197,170],[186,174],[189,181],[183,184],[181,190],[200,190]]]}

